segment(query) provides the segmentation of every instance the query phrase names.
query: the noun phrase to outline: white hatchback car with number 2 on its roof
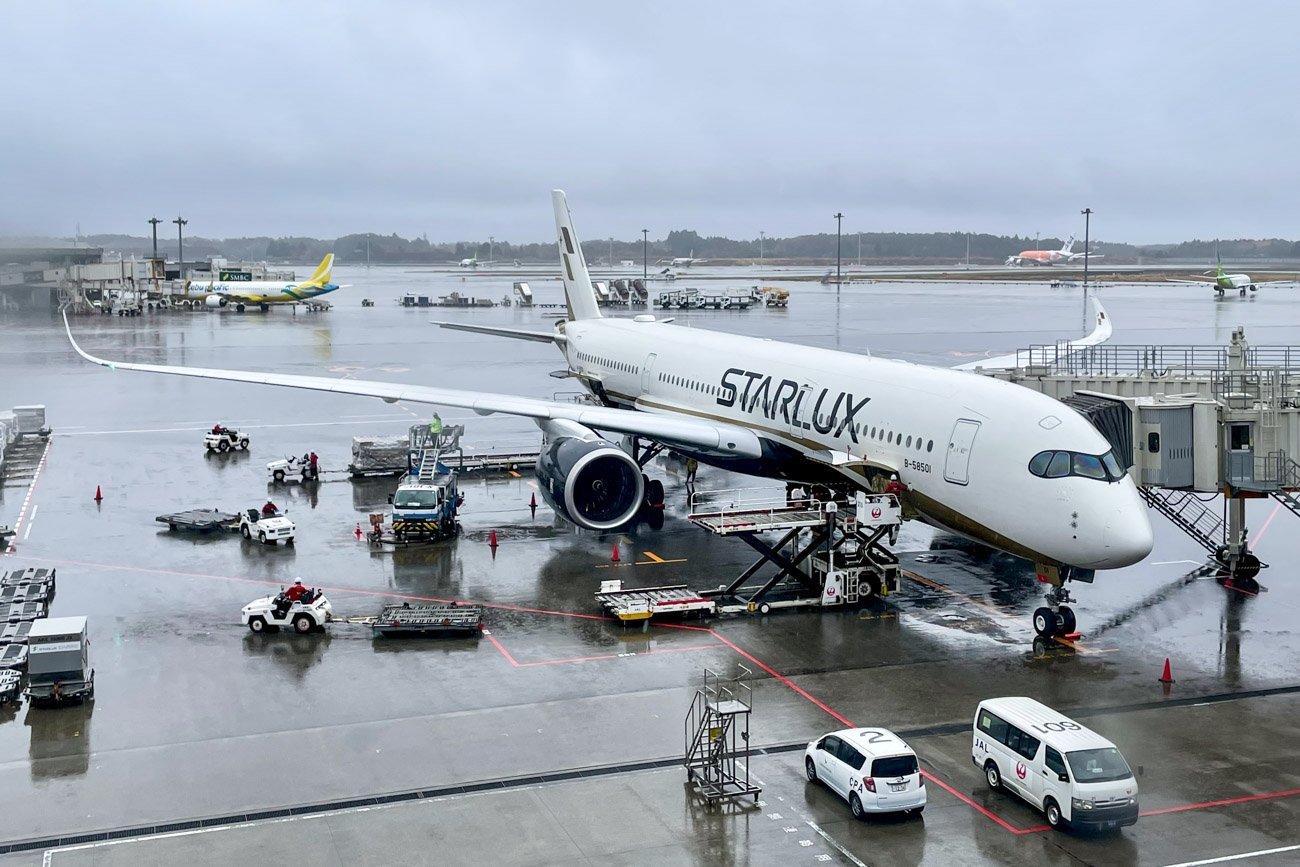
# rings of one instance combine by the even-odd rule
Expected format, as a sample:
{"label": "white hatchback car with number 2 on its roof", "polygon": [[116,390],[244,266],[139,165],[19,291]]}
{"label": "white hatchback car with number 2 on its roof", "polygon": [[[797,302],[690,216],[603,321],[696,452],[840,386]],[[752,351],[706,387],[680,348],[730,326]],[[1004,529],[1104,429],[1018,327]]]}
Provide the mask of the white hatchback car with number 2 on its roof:
{"label": "white hatchback car with number 2 on its roof", "polygon": [[820,780],[848,801],[855,819],[926,809],[916,754],[885,728],[846,728],[812,741],[803,751],[803,771],[809,783]]}

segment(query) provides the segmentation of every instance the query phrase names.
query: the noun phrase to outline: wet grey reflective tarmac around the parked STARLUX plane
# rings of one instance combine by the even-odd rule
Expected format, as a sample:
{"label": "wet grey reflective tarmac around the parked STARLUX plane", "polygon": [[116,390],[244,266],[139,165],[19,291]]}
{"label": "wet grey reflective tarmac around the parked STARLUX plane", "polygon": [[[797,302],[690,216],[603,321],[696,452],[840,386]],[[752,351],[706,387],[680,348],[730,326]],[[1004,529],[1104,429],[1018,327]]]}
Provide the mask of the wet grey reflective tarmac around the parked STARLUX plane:
{"label": "wet grey reflective tarmac around the parked STARLUX plane", "polygon": [[[545,328],[554,311],[395,303],[406,291],[499,299],[510,277],[343,272],[354,289],[322,315],[172,312],[81,317],[73,328],[108,357],[538,396],[568,390],[549,376],[560,367],[549,347],[428,324]],[[559,300],[558,283],[530,282],[540,302]],[[789,289],[788,311],[675,316],[935,364],[1083,328],[1079,292],[1045,285],[852,285],[838,302],[835,287]],[[1290,292],[1216,302],[1183,286],[1117,286],[1104,298],[1121,343],[1223,343],[1236,325],[1256,343],[1288,343],[1300,337]],[[377,305],[361,308],[363,296]],[[315,489],[270,487],[264,464],[315,450],[326,471],[342,469],[351,437],[403,433],[426,408],[113,373],[79,361],[49,317],[0,320],[0,407],[44,403],[56,429],[0,569],[58,568],[53,614],[90,616],[96,668],[92,706],[0,710],[0,846],[65,838],[0,863],[35,863],[51,850],[55,864],[290,853],[311,853],[312,863],[1154,864],[1300,845],[1300,541],[1296,519],[1271,502],[1248,513],[1271,567],[1260,597],[1226,591],[1197,568],[1201,550],[1157,517],[1145,563],[1076,593],[1084,638],[1074,647],[1035,645],[1028,615],[1040,597],[1028,564],[913,525],[898,546],[910,577],[884,603],[625,628],[599,616],[599,581],[712,588],[753,559],[681,517],[682,469],[672,460],[653,471],[668,489],[662,530],[577,532],[545,507],[530,515],[532,480],[504,476],[463,484],[458,542],[376,552],[354,530],[382,511],[394,480],[326,472]],[[530,422],[455,411],[443,420],[464,422],[469,446],[537,439]],[[202,433],[217,421],[247,428],[250,454],[205,458]],[[699,485],[763,482],[703,468]],[[0,489],[0,524],[17,521],[27,494],[26,482]],[[268,495],[298,523],[294,547],[188,537],[153,520],[255,507]],[[490,634],[382,642],[358,625],[254,636],[239,624],[240,606],[299,576],[328,588],[344,615],[403,598],[482,602]],[[1167,690],[1156,682],[1166,656],[1176,679]],[[753,672],[751,744],[767,750],[754,760],[762,807],[708,811],[680,768],[659,767],[681,754],[706,667]],[[1143,766],[1152,815],[1121,835],[1076,837],[1044,832],[1023,803],[987,793],[958,732],[980,698],[998,694],[1034,695],[1112,737]],[[803,781],[793,745],[849,721],[910,733],[932,775],[923,820],[853,823]],[[580,768],[592,773],[533,779]],[[454,790],[482,781],[506,783]],[[416,792],[441,794],[231,824]],[[66,840],[213,818],[225,820],[202,835]],[[1251,863],[1294,863],[1297,851]]]}

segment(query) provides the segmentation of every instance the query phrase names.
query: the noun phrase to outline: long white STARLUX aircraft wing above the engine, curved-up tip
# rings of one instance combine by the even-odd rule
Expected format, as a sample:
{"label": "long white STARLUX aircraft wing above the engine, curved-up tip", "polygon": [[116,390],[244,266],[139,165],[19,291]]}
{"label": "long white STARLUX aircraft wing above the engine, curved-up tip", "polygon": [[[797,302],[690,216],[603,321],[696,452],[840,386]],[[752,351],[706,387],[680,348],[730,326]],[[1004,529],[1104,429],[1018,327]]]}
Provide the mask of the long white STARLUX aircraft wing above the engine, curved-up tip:
{"label": "long white STARLUX aircraft wing above the engine, curved-up tip", "polygon": [[602,432],[634,434],[670,445],[693,446],[707,451],[734,455],[738,458],[759,458],[762,443],[753,430],[738,425],[696,419],[688,415],[664,412],[640,412],[636,409],[611,409],[560,400],[541,400],[520,398],[508,394],[488,394],[460,391],[434,386],[402,385],[396,382],[367,382],[360,380],[335,380],[332,377],[299,376],[292,373],[259,373],[256,370],[222,370],[213,368],[187,368],[165,364],[133,364],[109,361],[86,352],[77,344],[68,315],[64,313],[64,328],[68,339],[77,354],[92,364],[110,370],[144,370],[148,373],[169,373],[200,380],[225,380],[228,382],[254,382],[289,389],[309,389],[334,394],[355,394],[367,398],[380,398],[386,403],[408,400],[443,407],[472,409],[481,416],[497,412],[533,419],[542,422],[551,419],[567,419]]}

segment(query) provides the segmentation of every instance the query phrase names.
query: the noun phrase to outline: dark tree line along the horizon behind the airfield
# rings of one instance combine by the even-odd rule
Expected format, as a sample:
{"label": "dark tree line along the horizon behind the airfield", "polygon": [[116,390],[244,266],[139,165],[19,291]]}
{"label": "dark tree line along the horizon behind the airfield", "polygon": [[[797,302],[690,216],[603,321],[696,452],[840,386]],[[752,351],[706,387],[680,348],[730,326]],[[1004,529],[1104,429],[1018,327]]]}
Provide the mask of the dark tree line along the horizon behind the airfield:
{"label": "dark tree line along the horizon behind the airfield", "polygon": [[[1023,250],[1034,250],[1034,238],[1020,235],[988,235],[962,231],[942,233],[896,233],[863,231],[844,234],[840,238],[841,259],[853,264],[863,263],[939,263],[963,261],[970,242],[970,257],[974,263],[1001,263],[1008,256]],[[81,243],[104,247],[124,255],[148,256],[152,242],[134,235],[88,235]],[[1060,238],[1039,238],[1040,250],[1061,247]],[[646,255],[650,264],[680,256],[694,256],[711,260],[758,260],[760,242],[736,240],[718,235],[701,237],[696,231],[670,231],[666,238],[653,239]],[[1093,242],[1093,250],[1105,253],[1109,264],[1145,260],[1201,260],[1210,263],[1216,251],[1225,261],[1240,259],[1300,259],[1300,240],[1236,239],[1236,240],[1184,240],[1171,244],[1124,244],[1115,242]],[[798,260],[827,263],[835,261],[836,237],[833,233],[815,235],[796,235],[793,238],[762,239],[762,256],[767,260]],[[176,239],[159,239],[159,250],[174,257]],[[1076,240],[1075,251],[1083,250],[1083,242]],[[186,259],[207,259],[225,256],[231,260],[270,260],[270,261],[316,261],[333,251],[339,263],[361,264],[446,264],[463,259],[477,257],[480,263],[549,263],[556,257],[554,242],[512,244],[506,240],[430,243],[428,238],[402,238],[390,235],[355,234],[333,240],[320,238],[225,238],[208,239],[202,237],[185,239]],[[636,240],[588,240],[582,244],[589,263],[606,263],[612,255],[615,263],[632,260],[641,263],[642,244]]]}

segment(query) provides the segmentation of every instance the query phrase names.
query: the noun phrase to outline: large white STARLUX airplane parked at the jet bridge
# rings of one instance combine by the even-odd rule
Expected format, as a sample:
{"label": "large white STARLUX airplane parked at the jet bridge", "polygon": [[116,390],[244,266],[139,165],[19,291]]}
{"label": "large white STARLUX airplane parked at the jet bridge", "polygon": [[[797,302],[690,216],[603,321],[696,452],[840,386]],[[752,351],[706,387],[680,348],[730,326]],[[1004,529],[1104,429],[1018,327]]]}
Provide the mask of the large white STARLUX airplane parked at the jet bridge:
{"label": "large white STARLUX airplane parked at the jet bridge", "polygon": [[[928,523],[1031,559],[1050,585],[1041,634],[1074,630],[1067,582],[1138,563],[1152,549],[1147,507],[1106,442],[1070,407],[962,370],[682,328],[604,318],[563,191],[551,194],[568,318],[551,331],[448,325],[555,344],[602,406],[252,370],[88,361],[146,370],[410,400],[533,419],[537,478],[578,526],[610,530],[646,499],[619,441],[666,445],[727,469],[870,489],[897,476]],[[65,318],[66,325],[66,318]],[[640,454],[640,452],[638,452]]]}

